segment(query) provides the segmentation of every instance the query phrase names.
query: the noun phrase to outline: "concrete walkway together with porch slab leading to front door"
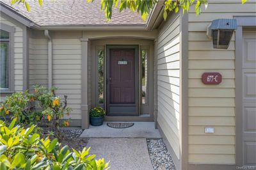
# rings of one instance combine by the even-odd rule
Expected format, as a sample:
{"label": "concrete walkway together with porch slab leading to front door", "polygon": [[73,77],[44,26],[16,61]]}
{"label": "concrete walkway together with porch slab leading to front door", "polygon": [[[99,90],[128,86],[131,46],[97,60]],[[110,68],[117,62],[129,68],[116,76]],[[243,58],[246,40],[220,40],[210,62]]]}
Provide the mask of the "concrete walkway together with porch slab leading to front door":
{"label": "concrete walkway together with porch slab leading to front door", "polygon": [[111,128],[107,122],[102,126],[84,130],[80,137],[89,137],[87,147],[97,158],[110,160],[112,170],[151,170],[147,138],[161,138],[154,122],[133,122],[129,128]]}

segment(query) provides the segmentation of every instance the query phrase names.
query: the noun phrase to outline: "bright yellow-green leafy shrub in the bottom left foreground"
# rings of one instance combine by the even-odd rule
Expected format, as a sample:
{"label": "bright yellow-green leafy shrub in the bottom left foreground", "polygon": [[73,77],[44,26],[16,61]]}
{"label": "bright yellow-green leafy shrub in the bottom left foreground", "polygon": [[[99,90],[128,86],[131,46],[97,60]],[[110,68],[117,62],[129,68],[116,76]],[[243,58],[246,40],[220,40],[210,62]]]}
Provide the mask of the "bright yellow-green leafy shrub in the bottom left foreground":
{"label": "bright yellow-green leafy shrub in the bottom left foreground", "polygon": [[61,148],[58,139],[40,139],[34,133],[35,125],[24,129],[15,126],[14,119],[9,127],[0,120],[0,169],[108,169],[104,158],[95,160],[89,155],[90,148],[83,151],[70,151],[68,146]]}

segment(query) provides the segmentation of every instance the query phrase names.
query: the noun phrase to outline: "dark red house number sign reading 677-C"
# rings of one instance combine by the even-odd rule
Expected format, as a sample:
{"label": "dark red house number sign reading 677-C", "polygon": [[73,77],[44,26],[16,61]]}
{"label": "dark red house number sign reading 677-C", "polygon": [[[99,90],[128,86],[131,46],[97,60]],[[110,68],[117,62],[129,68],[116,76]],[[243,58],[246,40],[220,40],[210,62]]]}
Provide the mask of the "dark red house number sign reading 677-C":
{"label": "dark red house number sign reading 677-C", "polygon": [[221,74],[217,72],[203,73],[202,82],[204,82],[204,84],[220,84]]}

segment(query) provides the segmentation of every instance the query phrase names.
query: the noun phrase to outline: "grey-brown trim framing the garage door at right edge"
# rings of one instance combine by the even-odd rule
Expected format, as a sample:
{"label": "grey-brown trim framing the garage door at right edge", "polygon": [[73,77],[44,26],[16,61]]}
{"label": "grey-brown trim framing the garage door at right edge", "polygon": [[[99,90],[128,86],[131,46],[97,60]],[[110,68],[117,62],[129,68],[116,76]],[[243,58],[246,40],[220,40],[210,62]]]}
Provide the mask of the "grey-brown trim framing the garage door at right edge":
{"label": "grey-brown trim framing the garage door at right edge", "polygon": [[239,16],[234,17],[237,20],[236,30],[236,165],[243,166],[243,29],[253,27],[256,29],[255,16]]}

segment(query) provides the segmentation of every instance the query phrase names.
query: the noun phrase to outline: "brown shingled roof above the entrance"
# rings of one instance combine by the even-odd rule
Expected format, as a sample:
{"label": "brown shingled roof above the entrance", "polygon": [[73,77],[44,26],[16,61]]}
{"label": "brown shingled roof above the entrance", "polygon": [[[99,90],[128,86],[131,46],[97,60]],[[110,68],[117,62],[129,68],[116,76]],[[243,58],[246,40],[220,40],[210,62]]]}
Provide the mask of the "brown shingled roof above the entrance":
{"label": "brown shingled roof above the entrance", "polygon": [[31,11],[23,4],[10,5],[10,0],[1,0],[15,12],[20,13],[39,26],[145,26],[137,12],[113,8],[111,21],[107,22],[100,10],[100,0],[87,3],[86,0],[47,0],[42,7],[37,0],[29,0]]}

